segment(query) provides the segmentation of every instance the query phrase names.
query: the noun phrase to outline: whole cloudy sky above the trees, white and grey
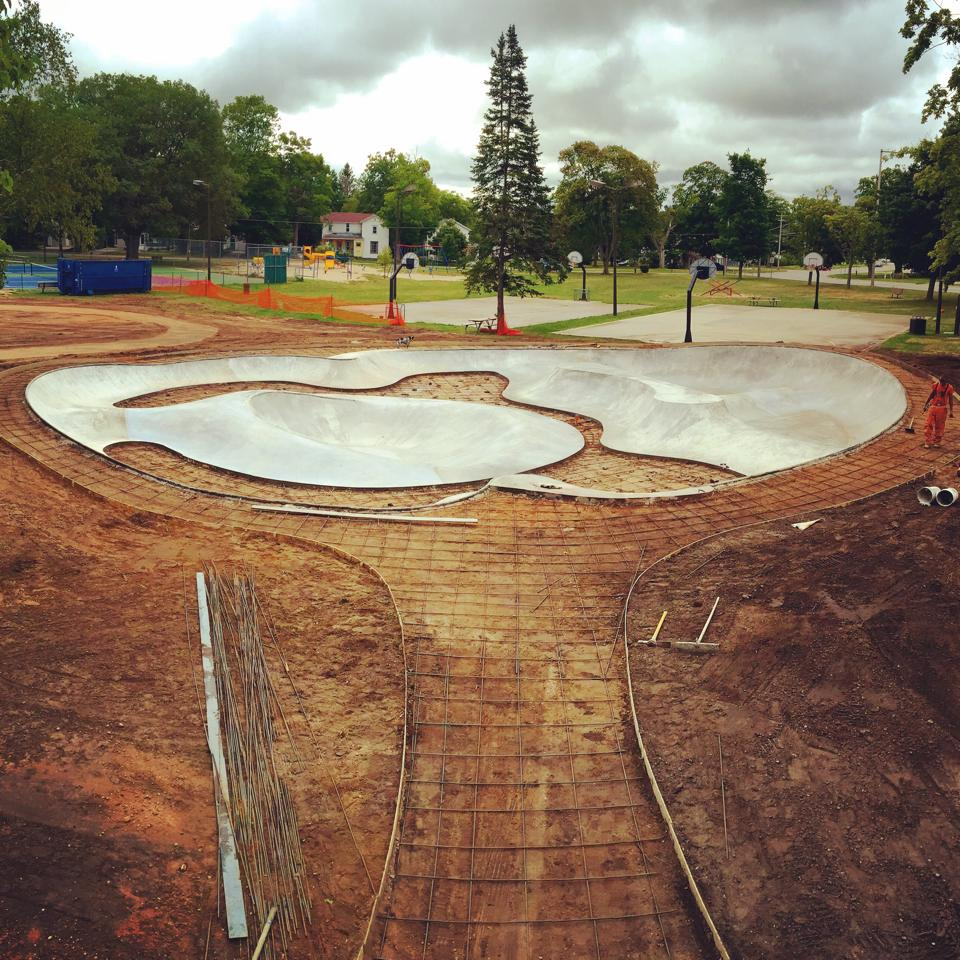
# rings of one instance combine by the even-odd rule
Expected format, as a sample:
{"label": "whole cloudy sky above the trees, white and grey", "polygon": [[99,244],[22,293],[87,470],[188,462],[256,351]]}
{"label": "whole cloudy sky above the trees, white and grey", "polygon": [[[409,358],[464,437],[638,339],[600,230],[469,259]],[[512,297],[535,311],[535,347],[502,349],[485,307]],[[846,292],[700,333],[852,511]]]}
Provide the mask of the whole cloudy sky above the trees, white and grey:
{"label": "whole cloudy sky above the trees, white and grey", "polygon": [[[960,0],[946,4],[960,9]],[[221,103],[260,93],[336,167],[394,147],[466,191],[490,46],[516,23],[548,177],[577,139],[619,143],[676,182],[749,149],[785,196],[849,195],[948,69],[908,75],[903,0],[40,0],[82,74],[155,73]]]}

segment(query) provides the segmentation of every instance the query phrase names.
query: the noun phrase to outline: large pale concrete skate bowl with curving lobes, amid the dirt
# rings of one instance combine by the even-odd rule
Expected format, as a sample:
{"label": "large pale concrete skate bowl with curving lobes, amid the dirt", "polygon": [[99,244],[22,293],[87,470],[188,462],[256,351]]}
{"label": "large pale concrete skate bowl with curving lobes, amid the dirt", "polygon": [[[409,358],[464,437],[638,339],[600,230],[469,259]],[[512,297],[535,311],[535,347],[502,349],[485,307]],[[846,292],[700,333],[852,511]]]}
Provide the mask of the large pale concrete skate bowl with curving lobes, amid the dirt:
{"label": "large pale concrete skate bowl with curving lobes, amid the dirt", "polygon": [[[50,426],[101,454],[114,444],[146,442],[280,482],[393,489],[492,480],[586,492],[528,472],[583,446],[579,431],[529,409],[278,390],[116,406],[198,385],[273,382],[366,391],[445,373],[498,374],[508,381],[503,396],[509,401],[598,421],[601,443],[610,450],[713,464],[742,476],[863,444],[906,409],[902,386],[880,367],[789,347],[372,350],[331,358],[105,364],[43,374],[26,394]],[[661,495],[685,492],[691,491]]]}

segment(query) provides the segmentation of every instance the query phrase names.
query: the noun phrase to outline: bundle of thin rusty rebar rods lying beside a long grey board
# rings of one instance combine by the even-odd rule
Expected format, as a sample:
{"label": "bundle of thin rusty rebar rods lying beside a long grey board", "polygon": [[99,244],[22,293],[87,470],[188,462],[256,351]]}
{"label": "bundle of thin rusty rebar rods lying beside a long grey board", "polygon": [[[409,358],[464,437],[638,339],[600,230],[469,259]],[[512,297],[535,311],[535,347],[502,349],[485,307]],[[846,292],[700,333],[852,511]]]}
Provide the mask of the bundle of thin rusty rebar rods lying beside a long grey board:
{"label": "bundle of thin rusty rebar rods lying beside a long grey board", "polygon": [[264,655],[252,574],[221,575],[212,566],[205,574],[230,820],[257,929],[276,907],[262,954],[269,958],[276,955],[275,937],[286,953],[289,941],[311,919],[299,826],[278,770],[277,740],[285,738],[292,756],[299,755]]}

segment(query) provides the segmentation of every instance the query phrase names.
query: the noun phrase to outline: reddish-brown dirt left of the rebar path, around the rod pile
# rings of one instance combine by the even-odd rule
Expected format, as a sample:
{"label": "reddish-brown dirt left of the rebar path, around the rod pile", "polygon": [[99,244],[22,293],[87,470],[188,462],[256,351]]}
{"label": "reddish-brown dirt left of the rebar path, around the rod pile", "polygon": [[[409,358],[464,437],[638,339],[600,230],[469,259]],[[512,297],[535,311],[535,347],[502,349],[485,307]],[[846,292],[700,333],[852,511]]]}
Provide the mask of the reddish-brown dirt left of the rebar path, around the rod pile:
{"label": "reddish-brown dirt left of the rebar path, around the rod pile", "polygon": [[[393,818],[399,628],[362,567],[295,543],[124,512],[0,445],[0,956],[236,956],[216,831],[194,572],[248,565],[306,703],[268,650],[304,757],[287,773],[314,924],[359,944]],[[207,944],[207,937],[210,943]]]}

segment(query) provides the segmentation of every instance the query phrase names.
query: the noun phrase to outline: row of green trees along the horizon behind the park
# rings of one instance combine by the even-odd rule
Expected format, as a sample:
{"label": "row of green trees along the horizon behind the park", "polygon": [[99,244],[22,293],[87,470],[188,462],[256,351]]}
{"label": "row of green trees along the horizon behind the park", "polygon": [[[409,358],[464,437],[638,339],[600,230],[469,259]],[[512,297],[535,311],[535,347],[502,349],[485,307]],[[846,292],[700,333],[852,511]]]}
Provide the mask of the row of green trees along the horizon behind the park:
{"label": "row of green trees along the horizon behind the park", "polygon": [[[933,43],[960,42],[948,10],[931,12],[924,0],[910,0],[906,10],[901,32],[912,44],[905,70]],[[521,216],[529,221],[525,246],[538,238],[539,255],[525,260],[534,274],[541,261],[562,267],[572,249],[604,269],[614,259],[665,267],[692,255],[724,255],[742,274],[745,263],[799,263],[817,251],[848,270],[864,260],[872,271],[883,257],[898,271],[948,281],[960,273],[956,76],[931,91],[926,107],[927,115],[945,118],[939,136],[889,157],[879,177],[859,182],[850,203],[830,185],[791,200],[778,196],[766,161],[749,152],[729,154],[725,167],[691,166],[670,189],[658,184],[655,162],[587,140],[560,152],[561,179],[550,191],[522,50],[515,32],[500,43],[491,51],[488,89],[494,107],[510,98],[513,106],[488,111],[468,201],[440,189],[426,159],[395,150],[369,157],[360,173],[349,164],[335,170],[309,139],[282,130],[277,108],[259,95],[220,107],[183,81],[107,73],[78,79],[69,35],[45,24],[33,0],[15,11],[0,0],[0,228],[23,246],[51,235],[90,247],[116,234],[136,256],[144,232],[316,243],[325,214],[364,211],[380,215],[393,243],[401,224],[405,243],[424,242],[443,221],[468,225],[475,234],[469,251],[452,226],[439,237],[450,259],[465,263],[496,232],[494,221],[503,226]],[[490,148],[510,109],[526,118],[513,148],[526,151],[529,176],[514,187],[529,196],[505,207],[505,192],[488,174],[500,162]],[[494,246],[494,259],[508,258]],[[505,268],[500,263],[501,273]],[[514,285],[523,286],[519,277]]]}

